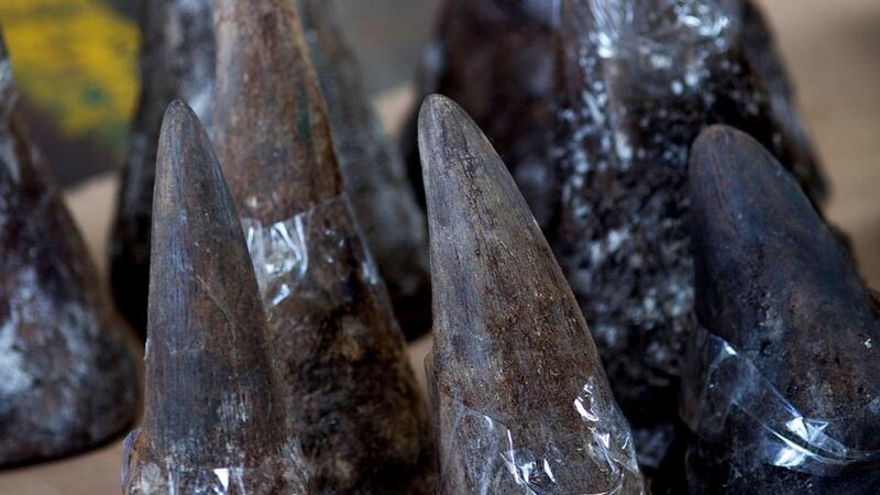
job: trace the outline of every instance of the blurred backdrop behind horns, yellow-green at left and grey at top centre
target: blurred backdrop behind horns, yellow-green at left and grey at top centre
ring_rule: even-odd
[[[140,91],[138,2],[0,0],[0,22],[31,135],[66,186],[124,158]],[[371,92],[413,76],[438,4],[337,1]]]

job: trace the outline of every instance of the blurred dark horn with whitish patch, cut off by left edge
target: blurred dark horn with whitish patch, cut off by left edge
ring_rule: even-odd
[[[136,416],[129,329],[18,114],[0,34],[0,465],[96,447]]]

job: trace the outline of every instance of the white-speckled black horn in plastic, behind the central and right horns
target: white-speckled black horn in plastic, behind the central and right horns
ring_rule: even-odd
[[[649,468],[674,438],[679,369],[695,328],[693,140],[712,123],[739,127],[788,164],[814,202],[823,195],[815,157],[773,105],[788,98],[784,88],[768,91],[766,67],[748,56],[746,6],[562,2],[562,194],[549,238]],[[776,59],[770,46],[755,51]]]

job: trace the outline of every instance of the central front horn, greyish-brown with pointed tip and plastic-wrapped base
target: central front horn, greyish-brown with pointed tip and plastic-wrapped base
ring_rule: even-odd
[[[590,330],[504,163],[439,96],[419,147],[440,493],[645,493]]]

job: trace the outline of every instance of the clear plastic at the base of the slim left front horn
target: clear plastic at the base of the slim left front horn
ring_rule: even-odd
[[[172,458],[138,460],[133,451],[139,429],[125,438],[122,460],[123,493],[130,495],[265,495],[305,494],[305,470],[292,449],[286,457],[265,459],[260,466],[191,466]],[[279,492],[282,491],[282,492]]]

